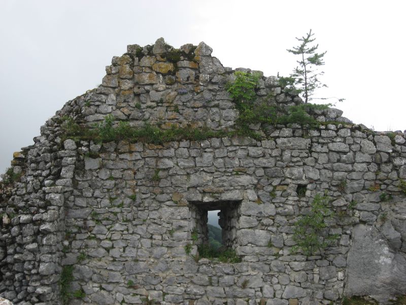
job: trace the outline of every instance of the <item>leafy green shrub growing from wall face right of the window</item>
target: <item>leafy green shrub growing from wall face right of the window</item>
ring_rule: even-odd
[[[291,251],[301,250],[307,256],[319,251],[324,256],[324,250],[338,238],[336,234],[322,236],[327,227],[327,221],[332,218],[332,215],[329,197],[317,194],[310,204],[308,214],[294,223],[293,240],[296,245],[291,248]]]

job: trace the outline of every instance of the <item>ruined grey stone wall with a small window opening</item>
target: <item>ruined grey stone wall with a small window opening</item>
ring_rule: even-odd
[[[21,178],[0,189],[0,296],[61,304],[67,287],[69,304],[316,305],[352,295],[384,304],[406,292],[402,132],[375,133],[329,108],[317,128],[251,125],[260,141],[62,140],[63,118],[92,128],[108,114],[139,128],[232,129],[239,112],[225,84],[251,70],[211,53],[203,42],[129,45],[101,85],[14,154]],[[262,73],[256,93],[301,103]],[[324,235],[339,237],[304,256],[291,251],[294,223],[317,194],[334,214]],[[213,209],[241,262],[198,259]]]

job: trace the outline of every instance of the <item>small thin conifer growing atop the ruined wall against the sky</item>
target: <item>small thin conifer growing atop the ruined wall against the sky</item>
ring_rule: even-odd
[[[297,93],[302,93],[304,97],[304,102],[308,103],[312,100],[311,96],[314,90],[320,87],[327,87],[327,85],[322,84],[318,76],[323,75],[324,72],[318,72],[317,67],[323,66],[323,56],[326,52],[316,53],[319,45],[311,46],[315,38],[312,38],[312,29],[306,36],[296,39],[300,42],[300,45],[293,47],[292,49],[287,49],[288,52],[299,55],[300,59],[297,60],[299,64],[298,67],[293,69],[293,73],[290,77],[284,78],[284,80],[295,88]]]

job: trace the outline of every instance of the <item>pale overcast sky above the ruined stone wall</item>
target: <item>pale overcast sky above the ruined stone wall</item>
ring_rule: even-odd
[[[325,55],[321,97],[377,131],[404,130],[403,1],[0,0],[0,172],[63,104],[101,83],[127,44],[205,41],[226,67],[289,75],[310,28]]]

